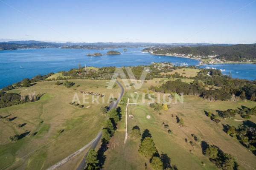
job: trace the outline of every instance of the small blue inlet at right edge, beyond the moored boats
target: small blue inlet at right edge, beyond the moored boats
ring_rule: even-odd
[[[256,64],[212,64],[212,65],[201,65],[201,68],[214,67],[217,69],[222,69],[222,74],[229,75],[233,78],[239,79],[256,79]]]

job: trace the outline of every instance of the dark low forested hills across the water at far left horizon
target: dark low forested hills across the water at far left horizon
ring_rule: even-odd
[[[60,45],[48,43],[48,42],[40,42],[40,43],[29,43],[29,44],[19,44],[19,43],[8,43],[8,42],[0,42],[0,50],[16,50],[16,49],[26,49],[26,48],[57,48]]]

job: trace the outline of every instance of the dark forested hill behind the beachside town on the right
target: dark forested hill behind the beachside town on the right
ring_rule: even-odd
[[[198,47],[173,47],[173,48],[145,48],[143,51],[153,51],[154,54],[192,54],[194,56],[219,55],[217,58],[230,61],[242,59],[256,59],[256,44],[238,45],[209,45]]]

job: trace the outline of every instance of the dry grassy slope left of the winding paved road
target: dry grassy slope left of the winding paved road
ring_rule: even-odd
[[[29,88],[18,88],[10,91],[20,92],[24,95],[33,91],[36,91],[36,94],[45,94],[37,102],[0,109],[2,116],[17,117],[10,122],[5,119],[0,120],[0,128],[4,129],[0,131],[0,168],[32,152],[15,162],[9,169],[44,169],[78,150],[97,135],[102,122],[105,120],[105,115],[100,113],[100,107],[108,104],[102,104],[101,98],[100,104],[91,103],[91,95],[87,100],[90,104],[84,104],[84,108],[78,108],[69,103],[75,93],[78,93],[82,102],[80,91],[104,93],[105,102],[107,102],[109,94],[113,92],[114,96],[117,97],[120,88],[116,86],[114,90],[106,89],[107,81],[71,81],[80,86],[65,88],[63,85],[54,85],[55,81],[37,82],[36,85]],[[90,107],[86,108],[89,105]],[[44,122],[41,123],[41,121]],[[23,123],[27,124],[21,128],[16,127],[16,124]],[[64,129],[64,132],[58,135],[56,132],[60,129]],[[8,139],[9,136],[29,131],[31,131],[30,134],[32,132],[38,133],[34,137],[28,135],[15,143]]]

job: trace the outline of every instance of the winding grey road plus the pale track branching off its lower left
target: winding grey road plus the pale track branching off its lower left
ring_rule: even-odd
[[[112,108],[116,108],[118,102],[120,101],[120,99],[122,98],[122,95],[124,94],[124,88],[122,87],[122,85],[118,81],[116,81],[116,83],[121,87],[121,94],[119,95],[119,97],[118,97],[118,99],[116,101],[111,102],[108,105],[109,110],[111,110]],[[107,119],[108,119],[108,116],[107,116]],[[101,129],[103,129],[103,127]],[[61,165],[63,165],[64,163],[66,163],[67,161],[72,159],[73,157],[77,156],[79,153],[81,153],[83,150],[85,150],[90,145],[91,145],[90,149],[95,149],[96,146],[99,144],[99,141],[100,141],[101,137],[102,137],[102,130],[100,130],[98,135],[91,142],[89,142],[88,144],[86,144],[84,147],[82,147],[81,149],[77,150],[76,152],[72,153],[71,155],[67,156],[65,159],[62,159],[57,164],[54,164],[53,166],[47,168],[47,170],[55,170],[57,167],[60,167]],[[88,152],[89,152],[89,150],[88,150]],[[85,154],[84,157],[86,157],[88,155],[88,152]],[[86,159],[84,158],[81,161],[81,163],[79,164],[79,166],[77,167],[76,170],[84,170],[85,165],[86,165]]]

